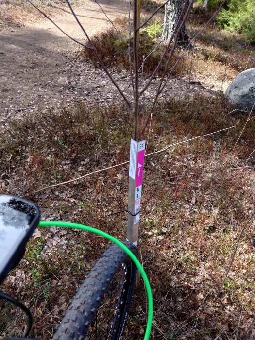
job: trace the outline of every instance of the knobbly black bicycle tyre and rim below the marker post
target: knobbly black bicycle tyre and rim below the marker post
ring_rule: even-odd
[[[134,244],[123,242],[136,256]],[[120,340],[136,282],[136,265],[116,244],[88,273],[53,340]]]

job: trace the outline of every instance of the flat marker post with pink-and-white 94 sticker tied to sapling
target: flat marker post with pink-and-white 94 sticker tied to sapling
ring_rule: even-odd
[[[142,177],[145,155],[145,140],[130,142],[129,192],[127,240],[137,245],[139,232],[139,211],[141,207]]]

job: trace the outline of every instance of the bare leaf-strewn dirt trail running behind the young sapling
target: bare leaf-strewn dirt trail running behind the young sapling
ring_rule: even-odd
[[[104,11],[111,19],[127,15],[128,0],[101,0]],[[54,21],[69,35],[85,41],[84,34],[68,8],[54,8]],[[52,8],[51,8],[52,10]],[[93,0],[83,0],[75,12],[91,36],[110,23]],[[38,108],[71,105],[77,100],[87,105],[107,104],[121,100],[118,91],[104,71],[95,69],[78,58],[79,46],[62,34],[49,20],[41,20],[25,28],[9,29],[0,34],[0,126],[11,117],[20,117]],[[126,71],[114,72],[120,88],[130,98],[130,76]],[[200,77],[201,78],[201,77]],[[158,79],[148,91],[147,99],[154,97]],[[223,90],[227,86],[224,84]],[[211,88],[213,87],[213,91]],[[170,79],[163,91],[169,98],[186,92],[212,93],[222,83],[213,79],[187,77]]]

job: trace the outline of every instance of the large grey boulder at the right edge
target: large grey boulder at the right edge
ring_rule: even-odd
[[[247,69],[238,74],[228,86],[226,98],[231,104],[236,104],[241,109],[253,107],[255,103],[255,68]]]

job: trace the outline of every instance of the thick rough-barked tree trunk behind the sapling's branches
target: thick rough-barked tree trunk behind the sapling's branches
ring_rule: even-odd
[[[173,30],[176,26],[176,23],[180,17],[182,8],[183,8],[184,0],[173,0],[169,1],[165,6],[165,18],[164,18],[164,30],[163,30],[163,39],[169,40]],[[186,33],[186,25],[184,24],[181,33],[178,37],[178,45],[187,46],[189,42],[189,37]]]

